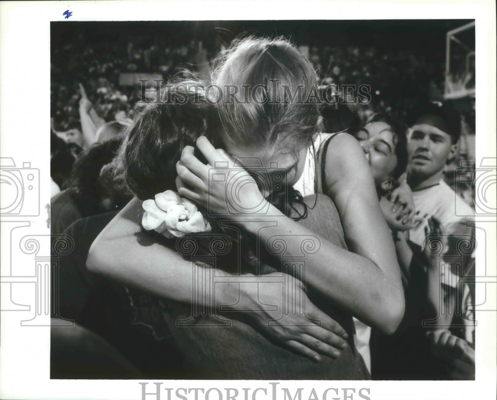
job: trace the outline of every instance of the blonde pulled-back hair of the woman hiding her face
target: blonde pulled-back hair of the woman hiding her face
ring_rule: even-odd
[[[312,142],[319,117],[312,94],[313,89],[317,94],[316,72],[288,40],[235,40],[214,61],[212,83],[222,94],[217,109],[225,142]]]

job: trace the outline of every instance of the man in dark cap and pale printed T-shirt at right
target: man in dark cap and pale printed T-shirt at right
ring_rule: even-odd
[[[411,120],[408,136],[408,184],[418,211],[410,231],[410,239],[422,246],[428,219],[440,221],[442,232],[453,234],[463,220],[456,215],[472,215],[474,211],[444,181],[444,166],[456,155],[461,135],[457,112],[448,105],[431,103],[417,110]]]

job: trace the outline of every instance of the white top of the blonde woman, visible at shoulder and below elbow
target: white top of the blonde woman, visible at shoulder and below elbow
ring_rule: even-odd
[[[309,147],[306,156],[304,171],[302,172],[299,180],[295,183],[295,185],[293,185],[293,188],[298,190],[304,197],[316,194],[316,152],[318,151],[321,143],[323,143],[331,135],[331,133],[318,133],[316,138],[314,139],[314,148],[313,146]],[[371,328],[355,317],[353,318],[353,321],[355,327],[355,347],[364,359],[364,363],[366,364],[368,371],[371,373],[371,349],[369,346],[369,340],[371,338]]]

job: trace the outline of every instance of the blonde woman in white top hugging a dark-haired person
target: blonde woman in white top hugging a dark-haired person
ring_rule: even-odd
[[[232,221],[243,235],[265,244],[276,261],[283,264],[285,259],[302,258],[303,238],[316,238],[318,250],[305,254],[305,273],[299,270],[298,263],[290,264],[285,269],[288,276],[304,281],[307,293],[315,296],[316,303],[329,315],[344,313],[345,317],[338,320],[349,338],[353,331],[352,316],[383,332],[393,333],[402,319],[404,297],[390,232],[381,213],[371,171],[356,140],[347,135],[316,133],[318,111],[312,96],[313,68],[286,40],[253,38],[235,42],[215,65],[213,83],[221,88],[218,93],[221,101],[219,96],[212,99],[209,94],[206,99],[208,103],[218,100],[216,110],[221,128],[216,139],[223,150],[216,149],[203,135],[195,140],[196,148],[193,143],[184,143],[187,145],[176,163],[175,184],[179,195],[197,203],[208,215]],[[244,90],[246,88],[250,90]],[[174,116],[170,117],[173,123]],[[158,124],[161,126],[161,121]],[[130,139],[131,135],[128,146]],[[160,164],[164,161],[160,156],[160,152],[148,155],[150,160],[159,163],[154,172],[161,171]],[[267,179],[253,179],[261,168]],[[275,170],[278,174],[271,172]],[[310,193],[321,192],[328,196],[316,199],[333,200],[338,211],[335,219],[341,220],[348,250],[292,219],[286,207],[277,207],[265,199],[281,190],[278,188],[281,171],[284,171],[286,188],[301,185]],[[216,176],[225,178],[213,180]],[[234,176],[237,179],[231,179]],[[172,176],[164,179],[170,180]],[[240,179],[247,183],[241,192],[232,186]],[[159,192],[166,188],[169,187],[164,185],[154,190]],[[318,203],[316,200],[316,205]],[[313,206],[304,204],[308,208]],[[301,215],[305,215],[305,205],[301,209]],[[263,210],[263,215],[259,210]],[[321,220],[326,221],[327,217],[333,221],[332,214],[322,215]],[[141,201],[133,200],[93,243],[88,268],[176,301],[191,302],[192,276],[201,276],[195,274],[195,268],[201,267],[185,261],[157,240],[149,242],[149,246],[140,245],[136,235],[142,231],[141,219]],[[268,224],[268,221],[277,223]],[[319,223],[315,221],[315,224]],[[273,240],[276,236],[283,238],[284,254],[276,251]],[[257,289],[257,285],[228,283],[222,290],[209,292],[196,301],[211,306],[229,304],[239,311],[255,310],[259,307],[257,296],[263,292]],[[273,293],[275,299],[278,296],[274,290],[267,285],[263,294]],[[338,345],[337,341],[330,340],[324,331],[311,333],[305,327],[290,328],[285,323],[288,320],[268,324],[274,314],[266,310],[250,314],[259,322],[261,331],[272,333],[273,338],[290,349],[323,362],[331,360],[334,367],[330,368],[327,379],[367,377],[357,364],[360,356],[350,340],[351,357],[344,357],[344,350],[334,360],[322,358],[320,353],[331,357],[338,353],[332,348],[333,344]],[[295,323],[298,316],[294,317]],[[233,350],[236,353],[237,348]],[[240,354],[246,356],[249,352]],[[234,363],[228,363],[232,369],[234,365],[247,366],[242,359],[230,360]],[[268,365],[274,366],[270,361]],[[250,368],[242,369],[250,371]],[[300,366],[299,370],[300,375],[298,371],[284,375],[287,379],[299,376],[310,379],[316,373],[313,370],[306,374]],[[278,377],[277,372],[269,374],[268,371],[269,367],[256,377]]]

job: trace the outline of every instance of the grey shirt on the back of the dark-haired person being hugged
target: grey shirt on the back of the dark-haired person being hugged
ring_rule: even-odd
[[[300,223],[326,237],[335,245],[345,248],[343,230],[336,207],[328,197],[320,196],[316,202],[313,199],[309,200],[313,208],[308,210],[307,217],[302,219]],[[310,238],[302,238],[301,250],[305,248],[308,239]],[[186,243],[183,246],[180,242],[176,242],[176,248],[188,248],[192,251],[191,255],[197,260],[203,258],[205,262],[218,263],[218,267],[223,267],[229,262],[229,253],[223,256],[228,257],[228,259],[212,257],[215,250],[221,249],[221,246],[214,246],[214,243],[217,243],[215,237],[210,240],[211,245],[204,246],[208,249],[207,252],[201,250],[200,244],[194,244],[192,236],[188,238],[188,246]],[[227,248],[238,254],[247,252],[247,249],[243,248],[237,249],[230,246]],[[219,250],[219,253],[223,252]],[[286,259],[283,255],[280,264],[281,262],[305,264],[304,252],[303,256],[303,258]],[[236,257],[233,259],[237,260]],[[283,266],[279,268],[277,265],[274,266],[278,270],[284,268]],[[210,282],[211,287],[214,287],[216,285],[215,272],[212,269],[206,269],[204,273],[211,275],[212,280],[207,279],[207,281]],[[192,278],[195,287],[195,282],[198,280],[194,276]],[[291,288],[284,286],[284,283],[281,287],[285,287],[283,290],[291,290]],[[218,288],[222,290],[222,283]],[[262,287],[259,289],[263,290]],[[195,294],[192,293],[192,296],[195,298]],[[313,295],[311,292],[308,293],[308,296],[317,307],[340,324],[349,335],[349,346],[342,350],[337,359],[323,357],[321,362],[316,363],[283,348],[281,343],[272,343],[259,333],[256,326],[250,325],[247,314],[225,313],[219,316],[209,313],[202,307],[173,301],[164,302],[162,300],[159,302],[157,298],[151,297],[151,305],[154,305],[155,309],[155,312],[151,314],[162,315],[162,320],[159,318],[156,320],[157,322],[149,324],[156,332],[168,330],[172,333],[182,356],[185,379],[369,379],[370,376],[364,361],[354,346],[351,315],[333,306],[330,300],[322,296]],[[132,293],[132,297],[139,298],[139,295]],[[284,311],[291,313],[291,305],[288,310]]]

